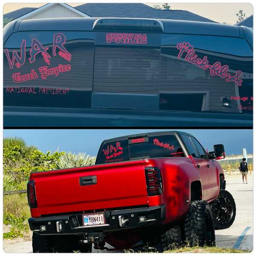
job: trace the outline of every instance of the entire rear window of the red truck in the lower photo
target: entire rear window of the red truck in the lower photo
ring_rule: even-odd
[[[106,143],[98,153],[96,164],[158,157],[185,157],[180,143],[174,135],[142,137]]]

